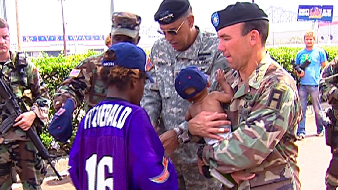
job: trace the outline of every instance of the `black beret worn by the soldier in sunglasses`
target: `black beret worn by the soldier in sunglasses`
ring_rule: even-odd
[[[154,15],[154,19],[160,24],[173,23],[187,13],[189,7],[188,0],[163,0]]]

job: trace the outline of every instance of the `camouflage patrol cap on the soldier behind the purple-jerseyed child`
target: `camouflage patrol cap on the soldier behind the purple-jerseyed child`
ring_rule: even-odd
[[[132,13],[115,12],[112,16],[112,23],[112,35],[136,38],[140,31],[141,17]]]

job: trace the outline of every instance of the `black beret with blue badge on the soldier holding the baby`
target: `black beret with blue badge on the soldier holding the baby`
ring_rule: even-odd
[[[267,20],[268,16],[264,10],[258,7],[256,3],[240,3],[229,5],[223,10],[216,11],[211,16],[211,22],[216,31],[234,25],[240,22],[247,22],[253,20]]]

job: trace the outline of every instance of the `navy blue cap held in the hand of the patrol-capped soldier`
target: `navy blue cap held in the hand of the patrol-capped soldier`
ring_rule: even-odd
[[[53,120],[49,124],[48,131],[55,140],[65,143],[72,137],[73,110],[74,102],[71,98],[68,98],[65,105],[54,114]]]

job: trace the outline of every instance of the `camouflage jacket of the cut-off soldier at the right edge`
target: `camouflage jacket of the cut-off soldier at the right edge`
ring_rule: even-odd
[[[324,100],[332,105],[335,115],[338,115],[338,57],[325,66],[319,81],[319,90]],[[338,116],[337,116],[338,118]],[[335,125],[335,130],[338,126]]]

